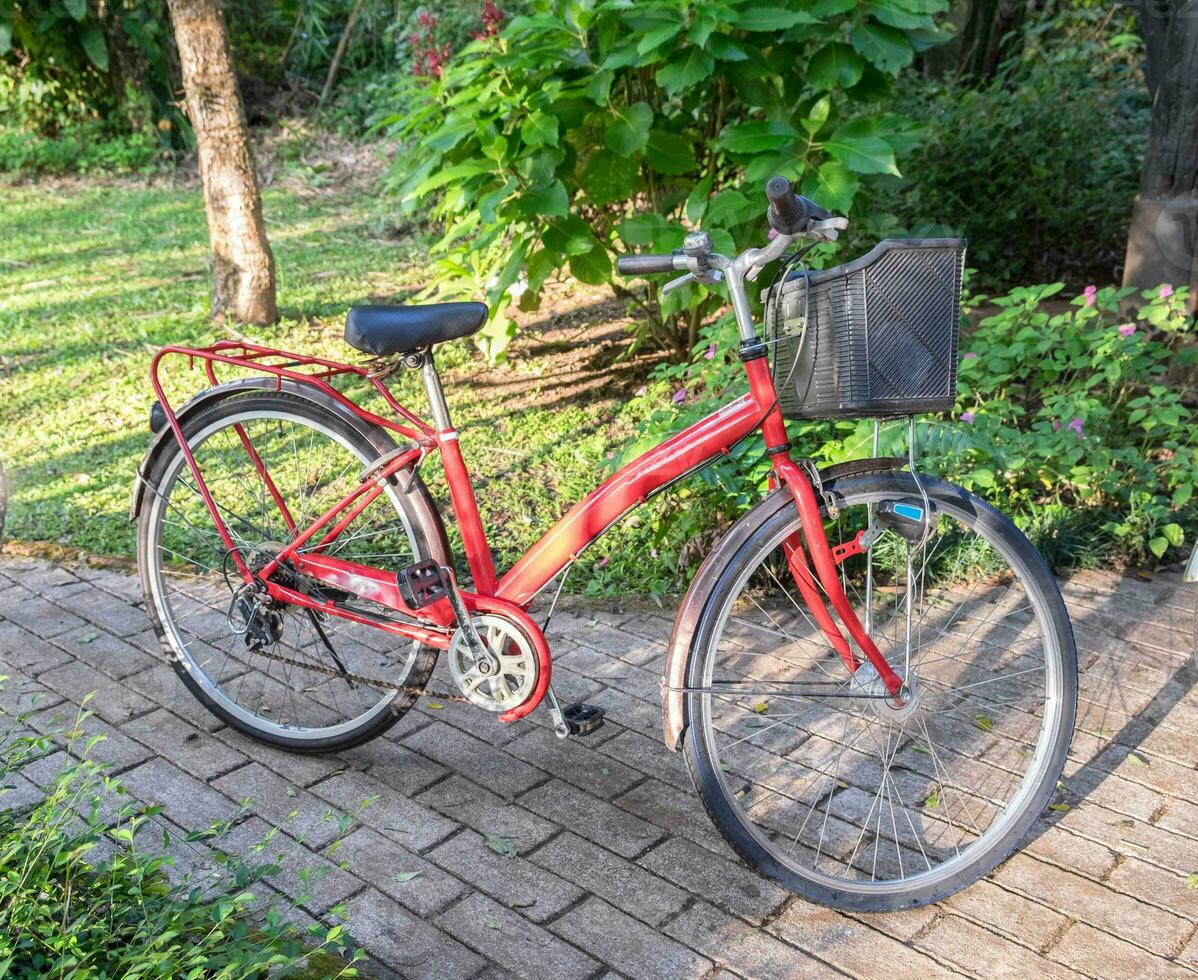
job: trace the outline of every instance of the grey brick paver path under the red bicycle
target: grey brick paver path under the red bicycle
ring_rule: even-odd
[[[425,702],[369,745],[301,757],[220,727],[192,700],[132,576],[0,559],[0,673],[11,677],[0,706],[28,710],[40,696],[30,724],[50,730],[96,691],[89,730],[107,740],[95,755],[129,791],[182,829],[234,817],[248,799],[225,846],[279,827],[271,851],[288,851],[290,873],[271,881],[292,894],[296,869],[320,865],[335,835],[323,815],[373,798],[337,852],[344,869],[297,914],[344,902],[379,975],[1192,975],[1198,588],[1083,574],[1065,592],[1082,664],[1071,807],[1048,813],[990,879],[884,917],[775,888],[708,823],[659,734],[668,610],[555,617],[557,686],[607,710],[589,738],[558,742],[544,712],[503,726]],[[36,798],[35,784],[18,784],[5,804]],[[519,853],[496,853],[488,835]]]

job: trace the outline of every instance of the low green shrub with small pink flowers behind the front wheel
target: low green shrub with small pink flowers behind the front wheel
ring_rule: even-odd
[[[1011,515],[1057,567],[1166,558],[1198,520],[1194,392],[1184,381],[1198,363],[1198,331],[1182,313],[1186,291],[1144,294],[1146,304],[1123,319],[1132,290],[1090,286],[1063,303],[1053,298],[1063,289],[969,301],[996,311],[962,337],[956,412],[916,424],[920,468]],[[639,438],[613,466],[744,391],[736,340],[724,317],[701,331],[691,363],[654,371],[629,405]],[[830,464],[869,455],[872,425],[803,421],[788,430],[798,452]],[[883,455],[906,455],[906,430],[883,427]],[[683,571],[697,564],[721,526],[760,498],[768,474],[761,442],[744,441],[623,544],[593,591],[642,577],[649,550]],[[680,574],[676,586],[684,583]]]

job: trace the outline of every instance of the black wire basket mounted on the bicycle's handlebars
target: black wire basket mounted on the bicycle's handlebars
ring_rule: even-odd
[[[888,238],[769,291],[774,385],[787,418],[944,412],[957,395],[964,238]]]

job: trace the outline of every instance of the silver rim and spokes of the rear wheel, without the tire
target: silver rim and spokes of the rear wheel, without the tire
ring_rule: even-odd
[[[335,428],[282,410],[246,410],[190,435],[189,446],[205,482],[242,550],[270,543],[277,546],[286,540],[288,531],[278,509],[270,510],[265,485],[247,477],[252,462],[235,441],[235,424],[247,432],[301,527],[347,494],[361,468],[374,459]],[[276,430],[273,436],[267,427]],[[282,448],[283,455],[271,454],[272,448]],[[231,465],[238,452],[243,459],[240,470]],[[218,459],[230,461],[224,472],[212,465]],[[262,734],[316,742],[345,737],[371,724],[398,697],[407,696],[289,666],[246,647],[228,622],[232,600],[229,563],[216,563],[224,548],[181,453],[171,458],[158,488],[147,501],[150,598],[171,651],[224,712]],[[230,500],[229,488],[240,488],[240,506],[223,502]],[[180,489],[183,495],[176,498]],[[397,492],[388,488],[392,508],[383,501],[368,508],[333,543],[329,553],[383,567],[415,561],[416,538]],[[253,513],[248,504],[254,504]],[[252,540],[255,532],[260,540]],[[193,553],[181,550],[182,542],[190,543]],[[231,576],[236,579],[236,571]],[[355,605],[368,612],[382,611],[357,599]],[[314,623],[315,617],[296,607],[280,610],[280,633],[265,649],[289,659],[326,669],[344,666],[350,673],[395,684],[407,683],[420,659],[419,643],[371,627],[339,617],[316,618]],[[199,623],[202,633],[196,629]]]

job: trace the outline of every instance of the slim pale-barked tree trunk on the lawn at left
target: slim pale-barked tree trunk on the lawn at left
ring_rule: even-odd
[[[274,256],[219,0],[168,0],[212,243],[212,315],[273,323]]]

